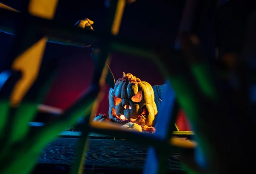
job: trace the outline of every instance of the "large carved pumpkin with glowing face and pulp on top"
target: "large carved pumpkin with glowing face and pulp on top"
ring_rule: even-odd
[[[109,98],[109,118],[115,122],[128,123],[139,115],[145,115],[145,125],[152,126],[157,106],[154,102],[154,90],[146,81],[132,74],[124,74],[111,88]]]

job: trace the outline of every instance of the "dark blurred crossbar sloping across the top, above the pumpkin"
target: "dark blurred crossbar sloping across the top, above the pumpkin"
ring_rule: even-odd
[[[15,34],[15,29],[19,29],[15,27],[15,23],[20,19],[20,14],[0,9],[0,15],[5,16],[5,19],[0,18],[0,30]],[[125,36],[113,36],[109,33],[103,34],[97,31],[94,31],[93,33],[86,32],[81,28],[74,28],[73,26],[58,21],[45,20],[38,17],[28,17],[28,19],[29,21],[32,21],[31,24],[37,26],[37,29],[49,38],[55,38],[60,41],[69,40],[73,43],[72,45],[77,46],[88,43],[90,45],[97,45],[102,39],[111,39],[111,51],[157,60],[157,55],[148,42],[137,41],[134,38],[127,38]],[[6,28],[9,28],[9,30]]]

